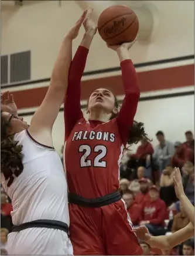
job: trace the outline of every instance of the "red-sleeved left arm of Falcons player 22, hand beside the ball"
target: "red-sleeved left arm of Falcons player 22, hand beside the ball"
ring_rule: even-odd
[[[85,33],[69,69],[69,85],[67,87],[66,97],[64,98],[65,140],[69,137],[74,124],[83,116],[80,106],[81,78],[85,69],[88,50],[97,31],[96,26],[91,21],[92,12],[93,9],[88,9],[87,11],[86,18],[83,22]]]

